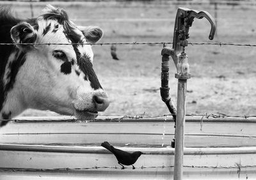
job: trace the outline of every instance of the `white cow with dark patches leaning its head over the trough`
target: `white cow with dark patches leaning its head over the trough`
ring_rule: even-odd
[[[22,45],[22,43],[95,43],[99,27],[76,26],[65,10],[47,6],[36,19],[14,18],[0,10],[0,119],[23,110],[52,110],[94,119],[109,100],[93,71],[91,45]],[[7,121],[0,121],[0,126]]]

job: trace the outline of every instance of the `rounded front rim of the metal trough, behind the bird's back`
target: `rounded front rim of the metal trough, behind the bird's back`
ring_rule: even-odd
[[[127,152],[142,151],[144,154],[174,154],[172,147],[118,147]],[[38,144],[0,144],[0,151],[35,151],[52,153],[98,153],[111,154],[101,146],[49,146]],[[251,147],[185,147],[186,154],[255,154]]]

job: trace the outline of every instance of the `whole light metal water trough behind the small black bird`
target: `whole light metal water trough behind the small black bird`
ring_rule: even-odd
[[[23,119],[29,121],[0,129],[1,180],[173,178],[170,118],[119,122],[99,117],[87,123],[70,122],[70,117]],[[186,117],[183,179],[255,179],[255,126],[253,117],[203,123],[201,117]],[[100,146],[106,140],[119,149],[145,153],[136,169],[120,169],[115,156]]]

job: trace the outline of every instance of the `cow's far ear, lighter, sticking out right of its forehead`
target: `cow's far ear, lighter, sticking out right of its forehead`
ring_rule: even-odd
[[[96,43],[103,36],[103,31],[97,26],[78,26],[84,37],[90,43]]]

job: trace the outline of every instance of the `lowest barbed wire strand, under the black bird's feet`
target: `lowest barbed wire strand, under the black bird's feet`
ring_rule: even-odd
[[[135,167],[135,169],[165,169],[165,168],[173,168],[174,165],[161,165],[161,166],[141,166]],[[207,168],[207,169],[242,169],[242,168],[254,168],[256,165],[239,165],[236,163],[234,166],[198,166],[198,165],[184,165],[185,168]],[[33,172],[49,172],[49,171],[72,171],[72,170],[97,170],[97,169],[122,169],[122,167],[107,167],[107,166],[94,166],[94,167],[81,167],[81,168],[54,168],[54,169],[30,169],[30,168],[0,168],[0,172],[24,172],[24,171],[33,171]],[[132,169],[132,167],[124,167],[124,169]]]

